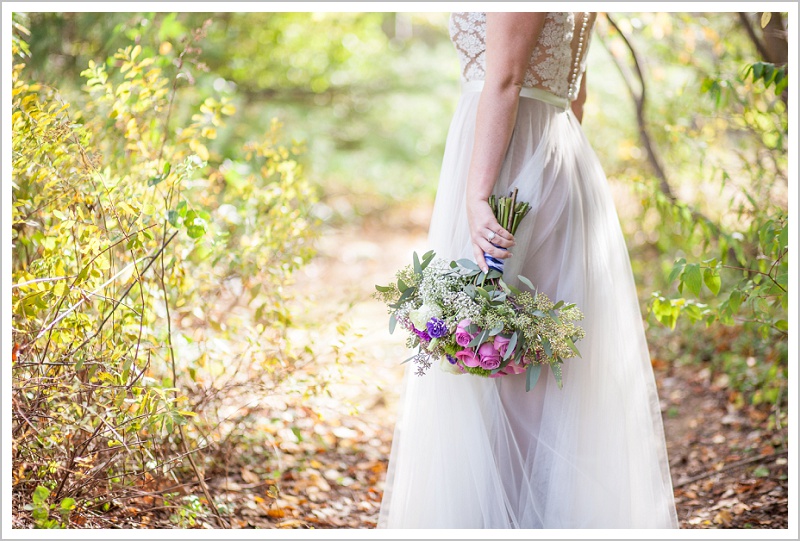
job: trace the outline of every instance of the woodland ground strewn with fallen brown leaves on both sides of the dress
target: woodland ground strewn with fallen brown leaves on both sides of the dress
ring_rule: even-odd
[[[376,527],[405,350],[370,294],[425,249],[429,217],[427,209],[393,216],[330,230],[298,277],[298,323],[310,330],[296,338],[328,344],[318,363],[335,364],[342,377],[310,400],[264,400],[263,422],[248,428],[255,443],[206,471],[227,526]],[[353,362],[337,362],[348,356]],[[653,365],[680,526],[787,528],[786,428],[771,426],[764,409],[734,407],[722,375],[657,355]],[[154,481],[104,513],[76,514],[72,525],[218,527],[196,483],[172,485]]]

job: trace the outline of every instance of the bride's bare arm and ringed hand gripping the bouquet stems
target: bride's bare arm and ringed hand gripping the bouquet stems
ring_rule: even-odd
[[[467,218],[472,251],[478,266],[488,270],[484,253],[506,258],[511,252],[499,250],[514,245],[514,237],[497,222],[488,199],[503,165],[514,131],[519,91],[525,81],[533,48],[542,31],[546,13],[486,14],[486,81],[475,124],[475,143],[467,177]]]

